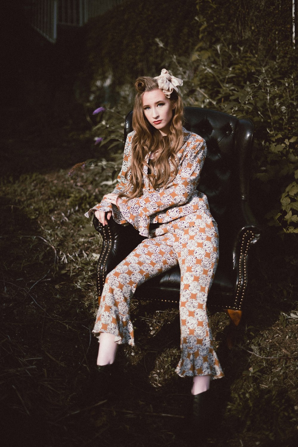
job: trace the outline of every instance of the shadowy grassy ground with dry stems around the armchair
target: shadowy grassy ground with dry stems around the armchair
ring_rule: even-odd
[[[78,167],[69,177],[69,160],[74,164],[94,155],[89,141],[65,138],[59,147],[57,137],[46,144],[28,137],[31,155],[40,157],[33,165],[24,158],[25,149],[18,152],[19,143],[8,141],[7,166],[12,159],[16,163],[5,169],[0,202],[3,445],[189,446],[191,382],[174,373],[175,308],[133,300],[137,345],[119,351],[118,395],[86,401],[97,349],[91,330],[101,239],[83,213],[108,190],[119,157],[104,167]],[[59,160],[54,156],[51,164],[53,153]],[[297,439],[298,244],[293,236],[282,240],[275,228],[265,232],[232,350],[225,344],[228,317],[211,315],[225,378],[212,383],[223,414],[208,445],[290,447]],[[200,445],[199,440],[192,444]]]

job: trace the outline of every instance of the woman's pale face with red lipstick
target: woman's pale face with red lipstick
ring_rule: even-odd
[[[143,111],[149,123],[158,129],[162,136],[169,133],[173,110],[176,104],[170,101],[160,89],[143,94]]]

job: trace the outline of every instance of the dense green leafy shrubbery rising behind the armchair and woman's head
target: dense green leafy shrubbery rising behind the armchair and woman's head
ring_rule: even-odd
[[[106,156],[120,156],[133,81],[140,75],[156,75],[161,63],[184,80],[181,92],[186,105],[252,120],[253,208],[260,220],[279,225],[284,232],[298,232],[298,54],[291,42],[290,0],[252,0],[249,8],[243,0],[200,0],[197,10],[194,2],[186,1],[182,7],[174,1],[171,8],[177,12],[185,8],[187,13],[172,14],[169,27],[161,26],[162,13],[145,14],[153,6],[131,1],[109,13],[108,25],[98,26],[98,21],[107,21],[106,15],[88,25],[93,83],[86,105],[102,105],[98,101],[107,79],[107,89],[111,93],[112,84],[117,85],[120,99],[93,123],[94,138],[102,139],[100,148]],[[167,2],[159,4],[166,7]],[[117,33],[108,33],[106,26]]]

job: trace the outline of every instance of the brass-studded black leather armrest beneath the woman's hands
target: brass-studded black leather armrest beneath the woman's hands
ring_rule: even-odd
[[[132,225],[119,225],[111,219],[102,225],[94,216],[93,225],[103,237],[103,246],[97,262],[96,287],[99,295],[107,274],[113,270],[144,239]]]

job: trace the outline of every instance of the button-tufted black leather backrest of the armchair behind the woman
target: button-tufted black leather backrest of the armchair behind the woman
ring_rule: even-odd
[[[207,157],[198,189],[207,195],[219,223],[229,204],[247,200],[253,125],[248,120],[200,107],[185,107],[185,124],[207,143]],[[132,112],[125,120],[124,138],[132,131]]]

